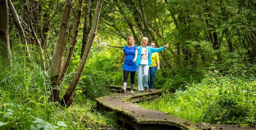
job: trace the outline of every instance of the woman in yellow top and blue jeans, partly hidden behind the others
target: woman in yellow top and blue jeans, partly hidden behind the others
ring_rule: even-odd
[[[155,43],[150,43],[149,44],[150,47],[155,48]],[[148,85],[149,85],[149,92],[153,92],[153,85],[155,82],[155,73],[156,73],[156,69],[160,69],[160,60],[159,60],[159,56],[158,56],[158,52],[154,52],[151,54],[151,60],[152,60],[152,65],[149,66],[149,70],[148,70],[148,74],[150,75],[148,80]]]

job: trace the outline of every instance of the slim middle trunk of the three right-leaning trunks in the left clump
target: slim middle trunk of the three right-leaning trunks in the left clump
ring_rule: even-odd
[[[71,34],[71,40],[69,43],[69,48],[68,48],[68,51],[66,52],[66,57],[65,57],[64,63],[60,69],[60,73],[59,73],[59,77],[56,81],[56,85],[59,85],[59,80],[62,80],[64,73],[68,69],[73,51],[75,49],[75,45],[76,45],[76,41],[77,41],[77,34],[78,34],[80,20],[81,20],[81,16],[82,16],[82,9],[83,9],[83,0],[78,0],[76,18],[74,20],[74,25],[73,25],[73,30],[72,30],[72,34]],[[59,96],[57,96],[57,97],[59,97]]]

